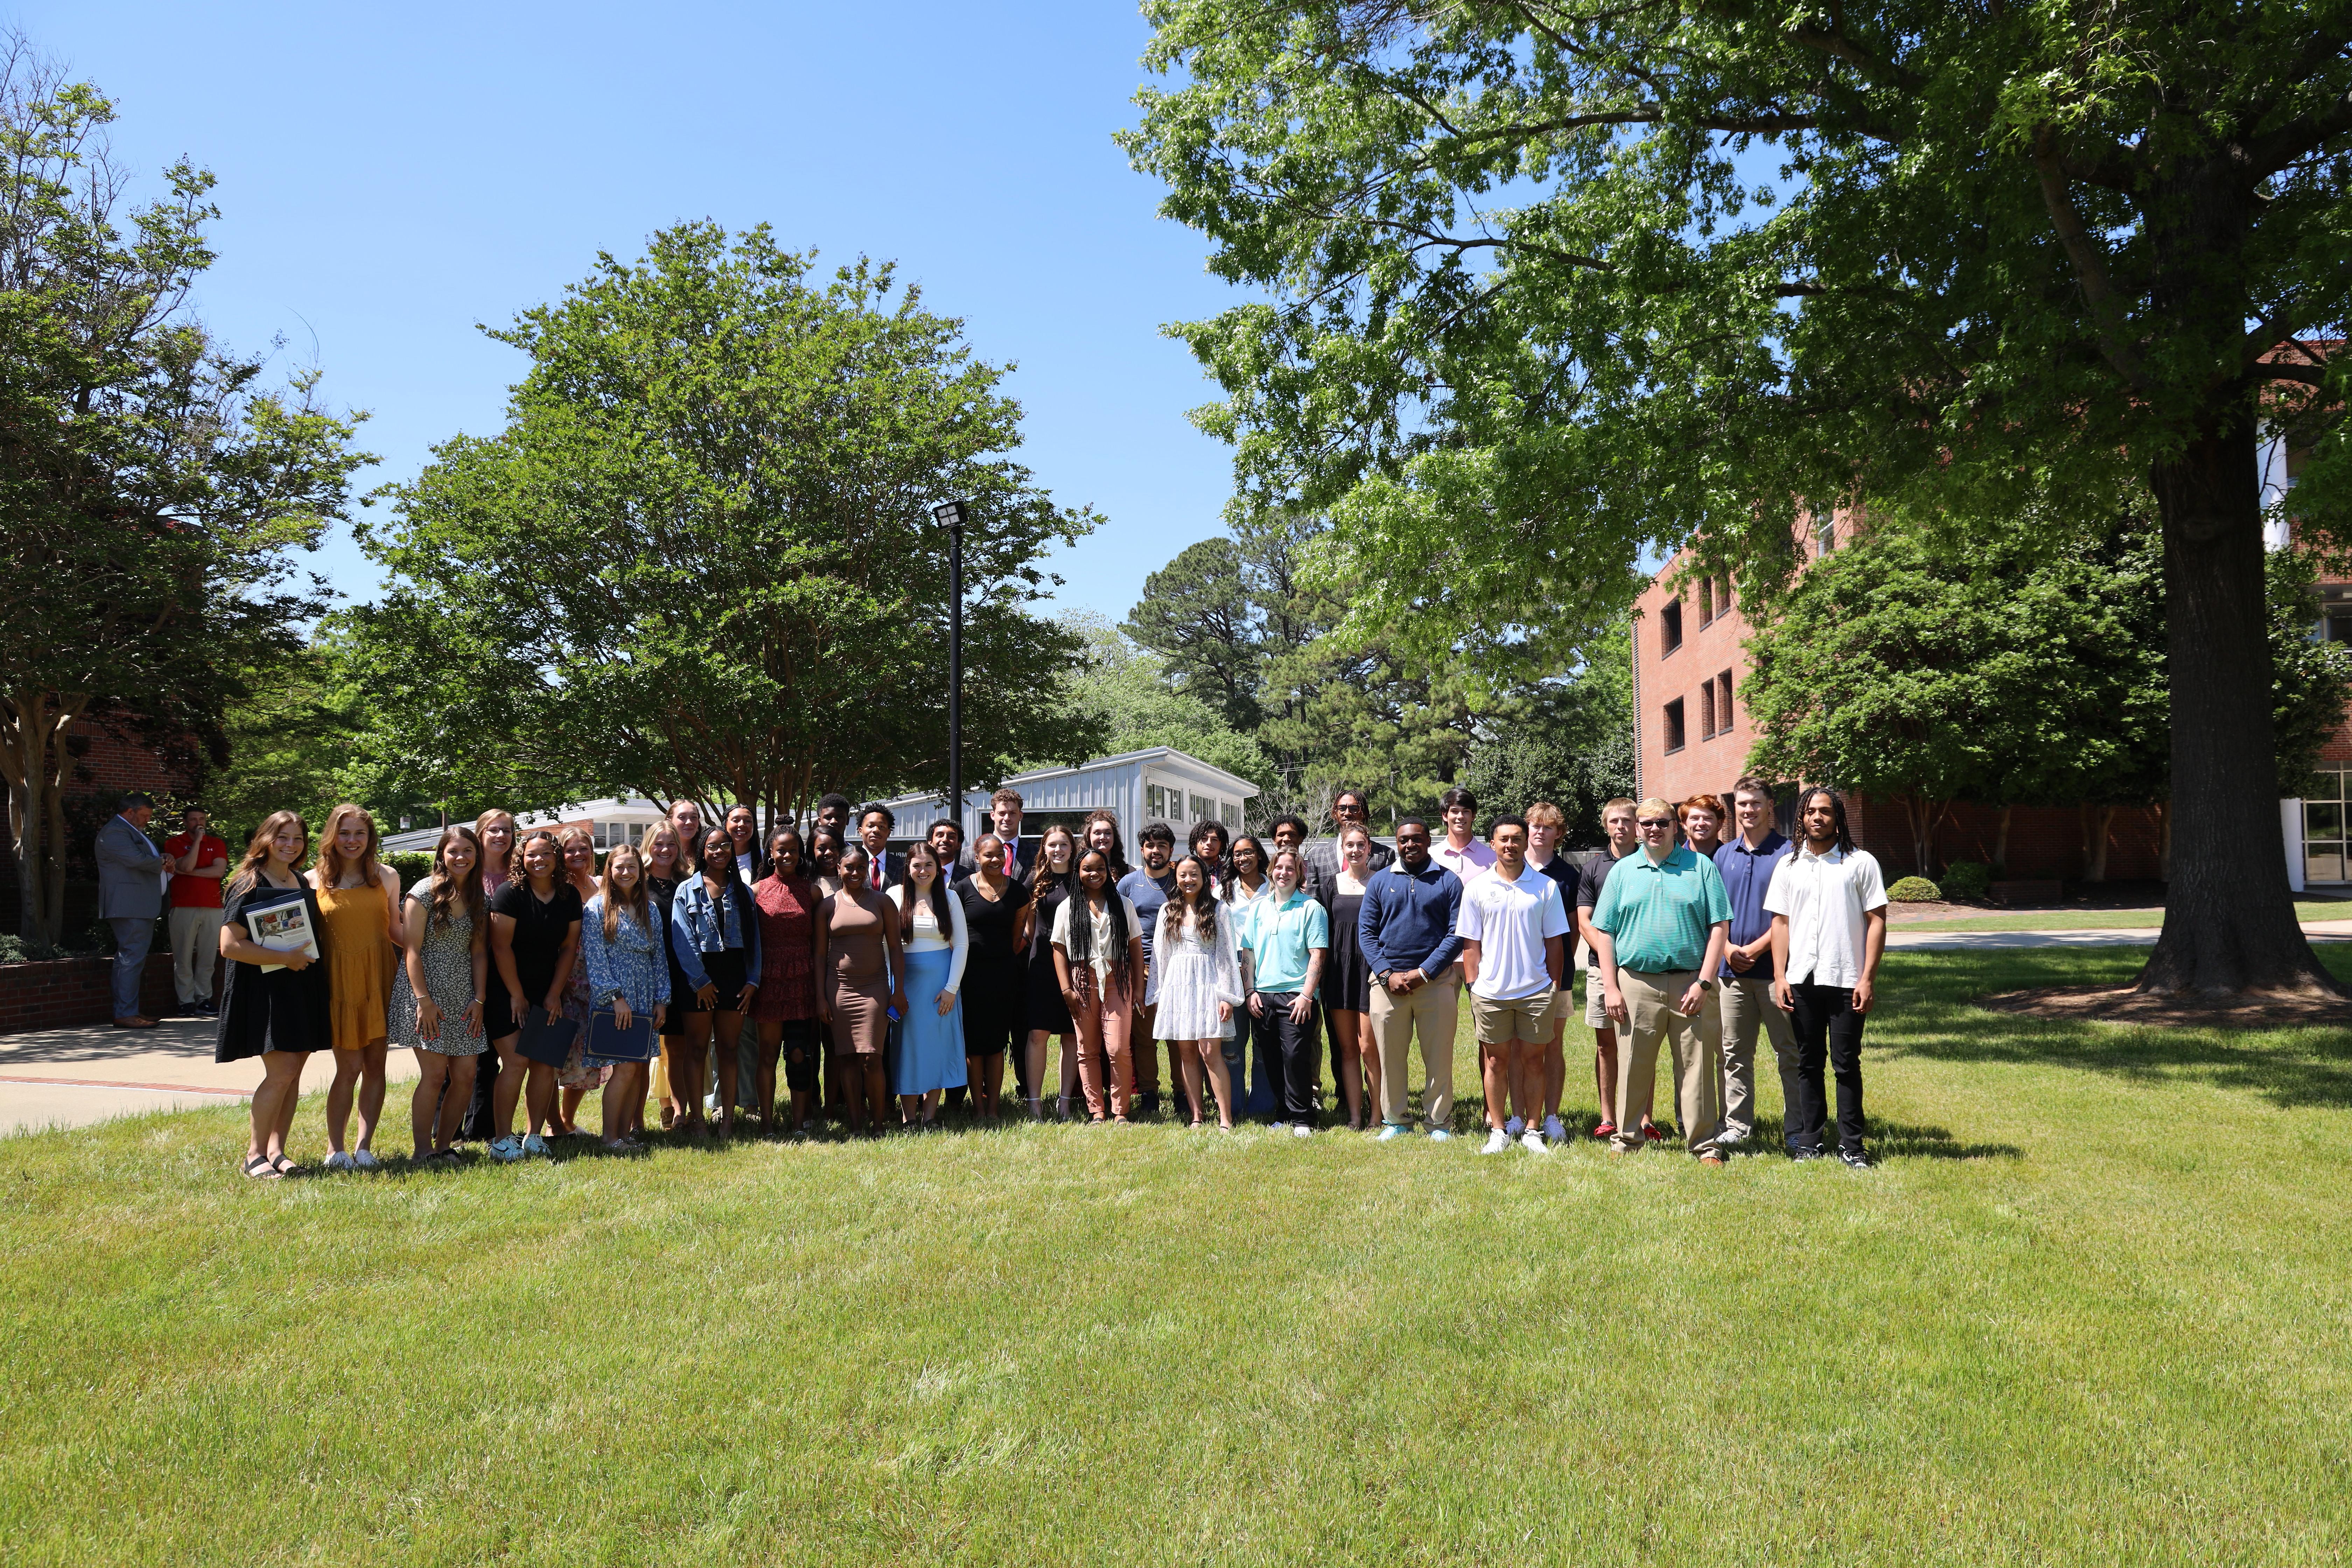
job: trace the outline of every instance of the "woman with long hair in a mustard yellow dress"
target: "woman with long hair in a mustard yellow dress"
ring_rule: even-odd
[[[383,1114],[386,1020],[393,961],[400,954],[400,875],[376,860],[376,818],[343,802],[318,835],[306,877],[327,919],[327,990],[334,994],[334,1084],[327,1086],[327,1168],[376,1168],[376,1119]],[[353,1088],[360,1091],[360,1150],[343,1150]]]

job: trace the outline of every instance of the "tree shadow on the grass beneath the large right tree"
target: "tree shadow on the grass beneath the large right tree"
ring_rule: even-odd
[[[2281,1110],[2352,1105],[2352,1027],[2279,1030],[2152,1027],[1994,1013],[1980,997],[2042,985],[2129,985],[2140,952],[1936,952],[1886,954],[1882,1006],[1863,1044],[1872,1051],[1952,1063],[2063,1065],[2145,1081],[2241,1088]],[[2352,952],[2321,950],[2352,978]]]

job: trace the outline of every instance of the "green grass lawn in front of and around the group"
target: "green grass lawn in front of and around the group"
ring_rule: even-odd
[[[2343,1561],[2352,1037],[1966,1006],[2136,961],[1891,957],[1875,1173],[1021,1126],[259,1185],[230,1110],[0,1140],[0,1542]]]

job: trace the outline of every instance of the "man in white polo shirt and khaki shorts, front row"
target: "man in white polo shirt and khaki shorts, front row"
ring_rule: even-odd
[[[1552,997],[1566,976],[1569,910],[1559,884],[1526,863],[1526,818],[1498,816],[1489,830],[1494,870],[1463,889],[1463,980],[1477,1025],[1486,1084],[1486,1147],[1510,1147],[1512,1126],[1536,1117],[1543,1095],[1543,1048],[1552,1039]],[[1519,1114],[1508,1117],[1512,1103]],[[1519,1138],[1543,1154],[1543,1133]]]

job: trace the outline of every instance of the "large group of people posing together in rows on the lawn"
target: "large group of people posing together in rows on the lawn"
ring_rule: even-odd
[[[1343,790],[1334,837],[1310,839],[1294,816],[1265,839],[1202,820],[1178,853],[1176,830],[1148,823],[1136,865],[1110,811],[1023,837],[1014,790],[995,795],[969,849],[955,820],[901,849],[887,806],[840,795],[807,835],[788,825],[764,842],[750,809],[706,825],[680,802],[602,858],[583,825],[517,830],[485,811],[440,832],[412,889],[362,806],[327,816],[315,856],[301,816],[280,811],[221,865],[216,1056],[263,1065],[245,1157],[256,1180],[296,1168],[287,1135],[313,1051],[336,1060],[329,1168],[379,1164],[390,1048],[419,1060],[412,1135],[426,1164],[454,1161],[461,1138],[501,1161],[543,1154],[579,1133],[597,1086],[616,1152],[640,1147],[649,1091],[661,1124],[694,1138],[734,1133],[739,1103],[788,1135],[818,1117],[866,1135],[924,1128],[957,1103],[995,1121],[1007,1058],[1033,1119],[1152,1117],[1164,1058],[1181,1119],[1263,1117],[1312,1135],[1329,1051],[1334,1114],[1395,1140],[1416,1126],[1416,1041],[1418,1124],[1444,1140],[1468,997],[1482,1152],[1541,1152],[1571,1135],[1559,1103],[1583,940],[1597,1138],[1632,1152],[1665,1135],[1649,1114],[1665,1051],[1682,1143],[1719,1164],[1755,1131],[1762,1032],[1790,1154],[1825,1152],[1828,1063],[1837,1152],[1867,1164],[1860,1020],[1886,896],[1837,795],[1802,797],[1799,844],[1773,832],[1773,809],[1743,778],[1738,835],[1719,839],[1712,795],[1679,809],[1616,799],[1602,811],[1609,846],[1566,856],[1566,823],[1543,802],[1479,837],[1477,799],[1449,790],[1435,830],[1404,818],[1390,846],[1364,795]],[[256,940],[249,917],[280,905],[301,907],[315,957]]]

